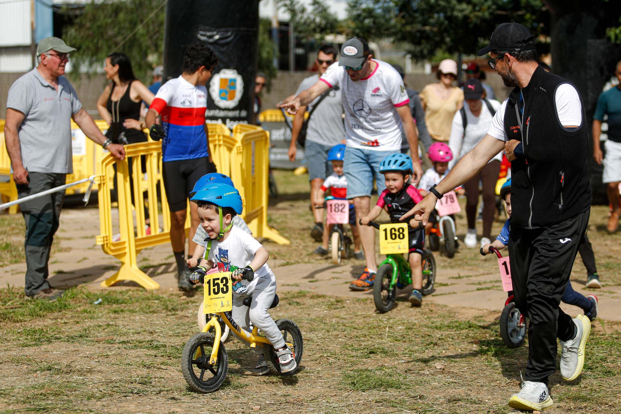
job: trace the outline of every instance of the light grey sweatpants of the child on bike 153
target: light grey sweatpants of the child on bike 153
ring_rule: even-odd
[[[256,277],[256,275],[255,275]],[[276,280],[270,280],[266,277],[260,277],[256,283],[255,290],[239,297],[233,297],[233,310],[232,316],[235,323],[240,328],[250,330],[250,321],[257,328],[261,329],[261,332],[267,339],[270,340],[272,346],[275,349],[284,347],[283,334],[280,333],[276,322],[271,318],[268,310],[272,302],[274,301],[274,295],[276,295]],[[248,296],[252,296],[252,304],[250,307],[243,305],[242,301]],[[263,347],[257,346],[255,348],[257,354],[263,354]]]

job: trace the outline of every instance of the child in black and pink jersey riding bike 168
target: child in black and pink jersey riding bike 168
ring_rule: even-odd
[[[406,154],[391,154],[384,158],[379,164],[379,172],[384,174],[386,180],[386,190],[382,191],[376,206],[369,211],[368,216],[361,219],[362,224],[376,219],[383,209],[388,212],[392,223],[401,223],[399,218],[410,209],[414,208],[421,200],[419,191],[410,184],[412,174],[412,159]],[[422,305],[422,257],[425,247],[425,230],[420,226],[420,221],[410,219],[409,221],[409,252],[408,261],[412,270],[412,293],[409,301],[413,306]],[[351,290],[367,290],[362,285],[366,281],[355,280],[351,283]],[[370,285],[373,286],[373,281]]]

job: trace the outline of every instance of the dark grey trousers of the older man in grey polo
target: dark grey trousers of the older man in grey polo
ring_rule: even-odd
[[[17,186],[18,198],[24,198],[41,191],[65,184],[66,174],[29,172],[30,182]],[[40,290],[50,287],[47,263],[54,233],[60,224],[60,210],[65,200],[65,191],[35,198],[20,204],[26,223],[24,251],[26,255],[26,296],[32,297]]]

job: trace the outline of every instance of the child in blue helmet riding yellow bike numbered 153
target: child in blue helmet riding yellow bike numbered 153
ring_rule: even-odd
[[[207,271],[217,265],[220,272],[233,272],[233,310],[235,323],[249,329],[250,322],[261,330],[278,354],[281,372],[296,369],[296,361],[291,349],[284,342],[278,326],[268,313],[276,295],[276,277],[267,265],[270,254],[265,247],[247,232],[233,226],[233,218],[242,213],[242,197],[233,186],[226,184],[207,185],[192,198],[198,205],[201,226],[207,232],[207,264],[190,276],[190,282],[199,283]],[[242,279],[242,275],[252,272],[252,282]],[[252,297],[252,305],[243,305],[245,298]],[[263,347],[257,346],[258,362],[253,370],[255,375],[270,372]]]

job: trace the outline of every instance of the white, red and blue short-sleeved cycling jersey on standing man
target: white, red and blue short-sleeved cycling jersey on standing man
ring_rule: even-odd
[[[183,76],[171,79],[157,91],[150,109],[161,115],[166,131],[166,138],[161,143],[163,161],[207,157],[205,86],[194,86]]]

